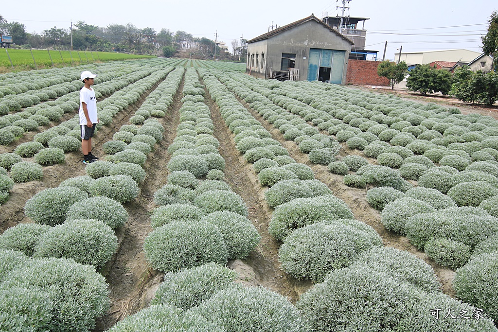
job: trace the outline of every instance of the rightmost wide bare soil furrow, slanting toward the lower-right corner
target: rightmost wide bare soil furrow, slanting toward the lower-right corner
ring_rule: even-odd
[[[240,100],[241,101],[241,100]],[[426,263],[432,266],[434,272],[438,276],[439,282],[442,284],[443,292],[450,296],[454,296],[454,291],[451,287],[455,272],[451,269],[441,267],[436,264],[432,259],[430,259],[424,252],[418,250],[416,247],[411,245],[410,241],[395,232],[388,231],[384,228],[380,222],[380,213],[373,209],[367,202],[367,190],[366,189],[356,189],[348,187],[344,184],[343,176],[332,174],[328,171],[327,166],[317,165],[309,161],[308,155],[302,153],[299,147],[293,142],[286,140],[282,133],[276,128],[274,128],[269,122],[267,122],[259,113],[253,111],[247,103],[241,101],[241,103],[248,109],[248,111],[261,122],[263,127],[270,132],[272,137],[285,147],[292,158],[297,162],[303,163],[311,167],[315,173],[315,178],[325,183],[334,193],[334,195],[343,201],[345,201],[353,212],[355,218],[359,221],[363,221],[371,225],[377,233],[382,238],[382,242],[385,246],[395,247],[400,250],[409,251],[415,254],[417,257],[423,259]],[[346,144],[341,144],[341,155],[358,154],[356,150],[350,150],[346,147]],[[363,153],[361,154],[362,156]],[[371,159],[371,158],[367,158]],[[373,159],[370,160],[372,162]]]

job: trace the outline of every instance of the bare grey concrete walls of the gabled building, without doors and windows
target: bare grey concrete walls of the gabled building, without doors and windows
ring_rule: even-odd
[[[331,50],[346,51],[346,59],[343,70],[343,84],[346,84],[346,73],[348,69],[348,57],[351,52],[351,43],[327,27],[316,21],[308,21],[287,31],[283,31],[267,40],[250,43],[248,54],[264,54],[264,78],[269,77],[271,70],[280,70],[282,53],[296,54],[295,68],[299,68],[299,80],[305,81],[308,76],[308,56],[310,48],[322,48]],[[259,53],[258,53],[259,52]],[[260,56],[259,56],[260,58]],[[247,66],[251,75],[262,77],[263,72],[254,70],[254,67]]]

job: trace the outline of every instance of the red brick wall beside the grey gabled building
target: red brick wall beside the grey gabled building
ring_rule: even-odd
[[[348,60],[346,84],[388,87],[389,80],[377,75],[377,66],[379,63],[379,61]]]

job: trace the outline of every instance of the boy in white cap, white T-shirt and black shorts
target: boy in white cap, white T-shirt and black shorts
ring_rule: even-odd
[[[83,163],[90,164],[98,157],[92,154],[92,137],[95,126],[99,123],[97,117],[97,98],[92,89],[96,74],[89,71],[81,73],[81,80],[85,86],[80,91],[80,127],[81,127],[81,149],[83,150]]]

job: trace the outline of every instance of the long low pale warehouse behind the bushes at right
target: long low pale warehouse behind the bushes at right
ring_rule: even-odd
[[[470,62],[478,57],[481,53],[466,49],[440,50],[440,51],[420,51],[420,52],[403,52],[394,54],[394,60],[406,62],[408,66],[420,64],[425,65],[433,61],[449,62]]]

